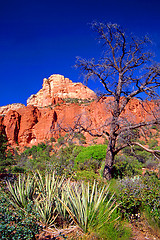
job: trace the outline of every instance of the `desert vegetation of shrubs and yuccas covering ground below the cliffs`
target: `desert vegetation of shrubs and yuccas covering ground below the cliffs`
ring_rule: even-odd
[[[0,238],[36,239],[52,229],[62,239],[76,239],[79,232],[86,240],[128,240],[126,221],[142,218],[160,231],[157,160],[140,147],[126,148],[116,156],[113,179],[107,182],[102,177],[107,145],[84,146],[82,134],[75,135],[76,145],[68,137],[23,152],[14,149],[13,155],[1,136],[1,166],[16,180],[1,181]],[[148,144],[159,149],[154,139]]]

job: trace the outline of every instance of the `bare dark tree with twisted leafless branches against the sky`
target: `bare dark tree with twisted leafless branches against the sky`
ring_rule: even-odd
[[[111,23],[94,22],[92,28],[102,43],[102,57],[98,61],[78,57],[76,66],[84,74],[86,82],[88,79],[99,80],[105,89],[105,96],[113,97],[112,119],[108,131],[103,128],[99,133],[93,133],[89,127],[83,127],[80,121],[76,123],[76,127],[79,131],[88,131],[92,135],[108,136],[104,177],[110,179],[115,155],[129,145],[139,144],[130,137],[131,133],[142,126],[160,123],[158,113],[155,113],[152,114],[151,121],[121,124],[121,116],[131,99],[139,97],[143,102],[146,98],[159,98],[160,65],[153,62],[153,56],[148,51],[151,42],[146,36],[143,39],[132,34],[128,36],[119,25]],[[120,138],[124,141],[119,141]],[[145,148],[141,144],[139,146],[158,154],[158,151]]]

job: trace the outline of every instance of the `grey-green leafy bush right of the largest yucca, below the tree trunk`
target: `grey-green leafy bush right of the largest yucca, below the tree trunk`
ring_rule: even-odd
[[[160,180],[153,174],[145,177],[124,178],[118,182],[117,197],[123,217],[137,218],[149,213],[160,226]]]

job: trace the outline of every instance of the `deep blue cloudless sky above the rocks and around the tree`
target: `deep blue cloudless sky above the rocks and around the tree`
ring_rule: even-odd
[[[26,104],[51,74],[79,81],[75,57],[100,50],[88,25],[93,20],[148,33],[160,61],[159,0],[0,0],[0,106]]]

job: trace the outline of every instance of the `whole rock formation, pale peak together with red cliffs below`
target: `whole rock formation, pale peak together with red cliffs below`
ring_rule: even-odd
[[[19,104],[1,107],[0,132],[6,133],[12,145],[18,143],[20,146],[31,146],[51,137],[58,138],[58,124],[68,128],[79,120],[90,129],[106,124],[109,128],[113,98],[104,97],[85,104],[67,103],[64,98],[93,99],[96,94],[81,83],[73,83],[61,75],[52,75],[48,80],[44,79],[43,88],[28,99],[27,107]],[[22,107],[19,108],[20,106]],[[154,102],[146,101],[142,105],[138,99],[132,99],[120,120],[123,123],[151,120],[155,107]],[[62,131],[61,134],[65,132]],[[93,140],[89,134],[85,133],[85,136],[88,142]]]

